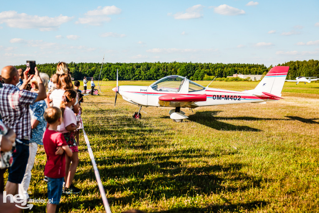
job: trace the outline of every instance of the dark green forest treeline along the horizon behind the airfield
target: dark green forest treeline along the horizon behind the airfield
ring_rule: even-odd
[[[41,72],[49,76],[56,72],[58,63],[38,64]],[[74,63],[68,64],[71,75],[75,80],[82,80],[84,76],[99,78],[101,63]],[[298,76],[319,76],[319,61],[290,61],[278,66],[290,66],[287,78]],[[26,68],[26,65],[16,66]],[[271,66],[272,67],[272,66]],[[144,62],[144,63],[105,63],[101,70],[100,80],[116,80],[116,69],[119,71],[119,80],[158,80],[167,75],[187,76],[190,80],[209,80],[213,76],[225,78],[233,74],[265,75],[271,67],[263,64],[222,64],[222,63],[192,63],[192,62]],[[312,77],[312,76],[310,76]]]

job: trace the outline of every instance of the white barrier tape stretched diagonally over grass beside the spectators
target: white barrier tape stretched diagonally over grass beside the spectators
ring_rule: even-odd
[[[83,130],[83,134],[84,134],[85,143],[86,143],[86,146],[87,146],[87,151],[89,152],[89,155],[90,155],[90,158],[91,158],[91,161],[92,161],[92,165],[93,165],[93,170],[94,170],[94,174],[95,174],[95,177],[96,177],[96,181],[98,182],[98,186],[99,186],[99,189],[100,189],[100,193],[101,193],[102,201],[103,201],[103,204],[104,204],[104,208],[106,210],[106,213],[111,213],[110,206],[108,205],[108,199],[106,198],[105,191],[104,191],[104,188],[103,188],[103,184],[102,184],[102,181],[101,181],[101,178],[100,178],[100,173],[99,173],[99,170],[98,170],[98,168],[96,166],[94,155],[93,155],[93,151],[92,151],[91,146],[90,146],[90,141],[89,141],[89,138],[87,138],[87,135],[86,135],[86,133],[84,131],[83,125],[82,125],[82,130]]]

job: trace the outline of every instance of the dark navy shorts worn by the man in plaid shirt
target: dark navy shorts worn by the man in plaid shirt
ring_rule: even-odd
[[[13,162],[9,167],[8,181],[11,183],[20,184],[22,182],[24,173],[26,172],[26,164],[29,159],[29,141],[20,139],[23,144],[16,142],[16,150],[12,153]]]

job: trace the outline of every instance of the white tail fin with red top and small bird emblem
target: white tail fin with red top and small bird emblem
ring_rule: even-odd
[[[270,93],[281,97],[281,91],[284,86],[289,67],[272,67],[267,75],[263,77],[255,89],[250,90],[253,93]]]

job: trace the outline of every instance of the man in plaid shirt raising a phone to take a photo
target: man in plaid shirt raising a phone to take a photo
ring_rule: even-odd
[[[27,68],[27,75],[30,68]],[[6,126],[16,133],[16,151],[12,154],[13,163],[9,168],[8,181],[5,186],[7,194],[18,194],[18,184],[21,183],[26,164],[29,158],[29,140],[31,138],[31,118],[29,105],[34,102],[44,100],[46,95],[45,87],[39,76],[39,71],[35,68],[35,77],[39,85],[39,93],[20,90],[16,84],[19,83],[19,73],[13,66],[4,67],[1,70],[4,80],[3,88],[0,90],[0,113],[2,121]],[[30,76],[24,82],[28,83]]]

